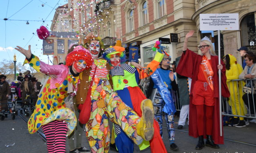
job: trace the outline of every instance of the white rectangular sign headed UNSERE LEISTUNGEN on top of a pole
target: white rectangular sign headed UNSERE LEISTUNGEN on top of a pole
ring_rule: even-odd
[[[239,30],[238,13],[200,14],[200,31]]]

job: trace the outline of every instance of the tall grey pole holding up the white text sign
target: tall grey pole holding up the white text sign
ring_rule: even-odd
[[[220,65],[220,31],[218,30],[218,65]],[[221,70],[219,69],[219,109],[220,109],[220,136],[222,136],[222,115],[221,115]]]

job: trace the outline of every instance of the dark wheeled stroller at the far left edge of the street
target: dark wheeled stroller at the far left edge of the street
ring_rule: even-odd
[[[0,104],[0,119],[4,120],[5,115],[7,114],[11,114],[11,119],[15,119],[15,115],[18,114],[18,112],[16,111],[16,105],[17,105],[17,101],[16,99],[18,98],[17,96],[13,96],[13,98],[11,98],[11,96],[9,96],[8,98],[8,102],[7,102],[7,107],[2,107],[3,104]],[[7,110],[6,110],[7,109]]]

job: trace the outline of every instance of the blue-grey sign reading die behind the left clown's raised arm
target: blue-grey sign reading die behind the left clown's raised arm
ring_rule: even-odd
[[[43,55],[63,55],[70,44],[79,41],[77,33],[50,31],[49,34],[43,40]]]

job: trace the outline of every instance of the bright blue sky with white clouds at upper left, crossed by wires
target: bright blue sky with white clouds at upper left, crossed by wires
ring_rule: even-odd
[[[28,49],[31,45],[32,54],[48,63],[48,56],[42,55],[42,39],[38,38],[36,29],[43,25],[50,31],[55,9],[67,3],[68,0],[0,0],[0,61],[13,60],[15,53],[17,63],[23,63],[24,55],[14,48],[21,46]],[[27,21],[29,24],[26,24]],[[52,61],[52,56],[49,57]]]

